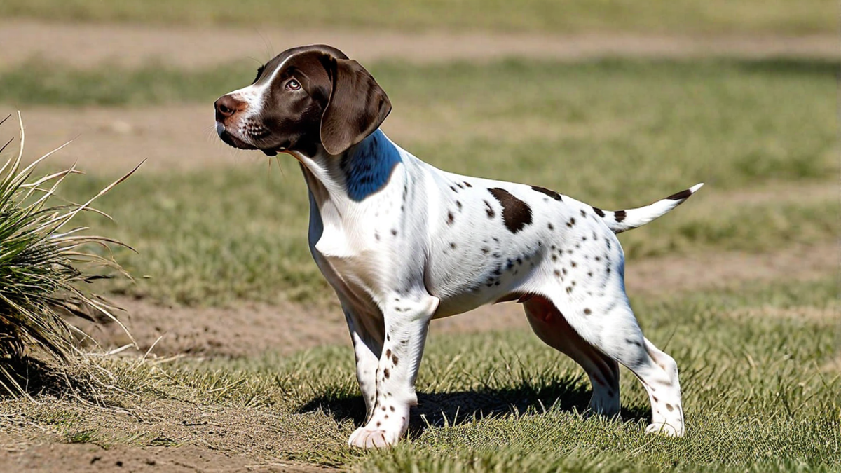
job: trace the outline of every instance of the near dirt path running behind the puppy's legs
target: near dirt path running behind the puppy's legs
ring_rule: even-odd
[[[838,274],[839,246],[783,248],[771,254],[719,252],[691,257],[650,258],[627,266],[631,295],[670,295],[772,280],[810,280]],[[246,305],[230,309],[171,308],[142,300],[118,300],[130,314],[128,325],[140,349],[193,356],[249,356],[294,353],[322,344],[348,342],[344,317],[331,306]],[[645,314],[639,314],[645,320]],[[484,306],[460,316],[432,322],[431,336],[526,328],[519,305]],[[93,332],[108,347],[129,343],[117,327]],[[160,338],[160,340],[159,340]]]

